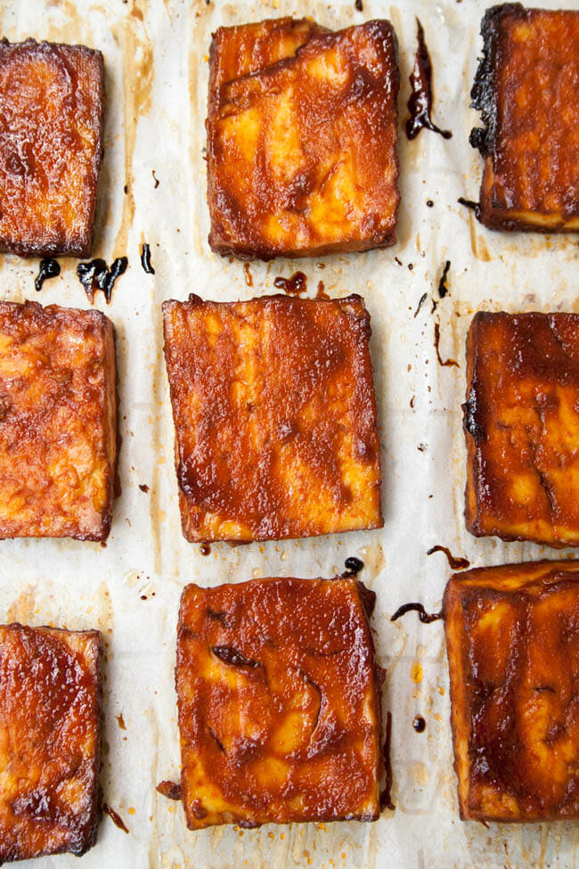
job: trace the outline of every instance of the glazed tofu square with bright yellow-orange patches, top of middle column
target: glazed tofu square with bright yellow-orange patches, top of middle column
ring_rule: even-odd
[[[209,244],[314,257],[396,241],[396,36],[280,18],[219,28],[208,98]]]

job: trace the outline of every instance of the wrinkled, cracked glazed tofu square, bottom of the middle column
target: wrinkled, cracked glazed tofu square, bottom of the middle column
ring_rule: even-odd
[[[175,682],[190,829],[378,818],[374,601],[343,578],[184,589]]]

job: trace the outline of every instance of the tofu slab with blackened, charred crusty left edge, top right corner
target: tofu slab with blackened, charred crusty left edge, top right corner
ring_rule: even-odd
[[[470,92],[483,129],[480,221],[492,229],[579,232],[579,12],[494,6]]]

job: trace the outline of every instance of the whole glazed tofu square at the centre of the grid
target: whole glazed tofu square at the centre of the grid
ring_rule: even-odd
[[[187,540],[381,527],[363,299],[192,295],[163,312]]]

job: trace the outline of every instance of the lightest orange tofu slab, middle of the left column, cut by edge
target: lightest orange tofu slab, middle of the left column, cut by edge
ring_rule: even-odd
[[[110,320],[0,302],[0,538],[105,540],[116,466]]]

